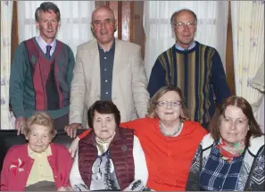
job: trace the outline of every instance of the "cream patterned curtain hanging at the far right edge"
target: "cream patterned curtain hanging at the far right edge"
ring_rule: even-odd
[[[264,131],[264,93],[260,92],[264,81],[263,85],[259,83],[259,76],[264,76],[264,71],[260,74],[264,69],[264,1],[231,1],[231,19],[236,95],[253,104]],[[258,79],[253,85],[256,74]]]

